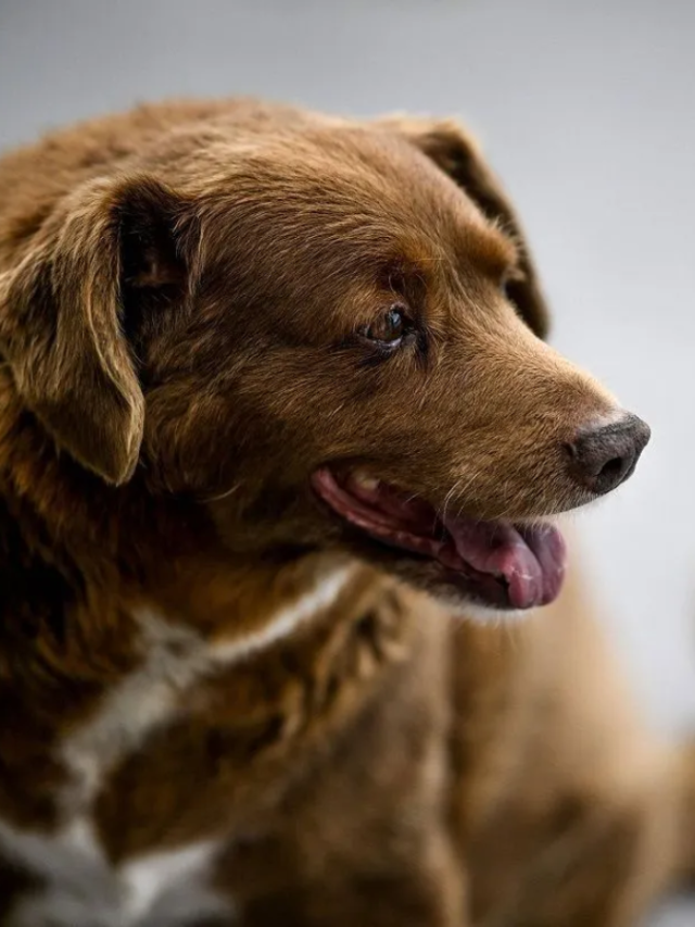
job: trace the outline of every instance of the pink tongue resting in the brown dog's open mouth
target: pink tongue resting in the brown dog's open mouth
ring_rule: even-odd
[[[501,522],[446,518],[456,553],[478,573],[505,579],[509,603],[530,609],[552,602],[565,574],[565,542],[549,525],[515,528]]]

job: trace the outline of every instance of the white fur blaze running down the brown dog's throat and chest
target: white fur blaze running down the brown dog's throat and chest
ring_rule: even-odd
[[[329,607],[351,572],[341,567],[323,577],[264,628],[239,640],[210,642],[191,628],[151,613],[138,615],[141,664],[62,744],[68,772],[59,796],[62,828],[47,836],[0,822],[0,852],[43,882],[14,907],[8,927],[184,927],[223,915],[230,923],[230,902],[208,886],[222,841],[152,853],[115,867],[90,823],[93,800],[114,766],[176,717],[198,680],[270,647]]]

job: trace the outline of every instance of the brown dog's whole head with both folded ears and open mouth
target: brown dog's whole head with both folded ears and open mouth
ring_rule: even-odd
[[[541,519],[646,443],[541,340],[515,216],[452,125],[308,125],[67,209],[4,281],[17,386],[230,553],[343,547],[448,601],[542,604],[565,555]]]

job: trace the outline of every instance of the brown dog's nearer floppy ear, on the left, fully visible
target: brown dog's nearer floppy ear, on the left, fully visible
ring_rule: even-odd
[[[0,277],[0,352],[20,396],[60,448],[115,485],[132,475],[144,421],[123,290],[180,276],[176,211],[150,178],[90,183]]]

